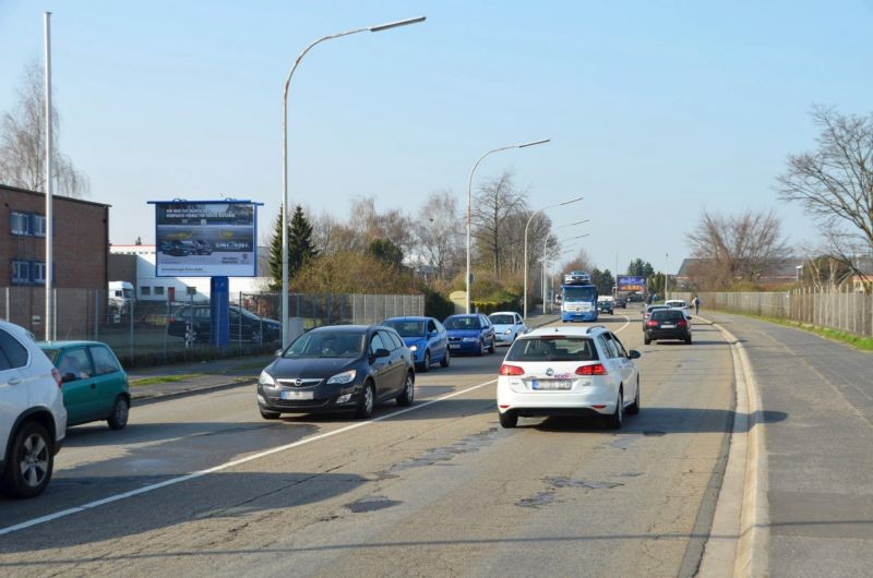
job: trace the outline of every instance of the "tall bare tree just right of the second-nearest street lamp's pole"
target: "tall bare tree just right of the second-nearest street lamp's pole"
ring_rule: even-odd
[[[519,191],[511,170],[486,182],[476,195],[473,209],[474,236],[479,255],[493,264],[494,277],[500,279],[502,252],[506,244],[507,219],[527,208],[527,191]]]

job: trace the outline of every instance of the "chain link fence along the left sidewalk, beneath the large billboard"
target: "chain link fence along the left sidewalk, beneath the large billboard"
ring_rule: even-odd
[[[280,346],[275,323],[279,320],[278,293],[230,294],[230,342],[225,347],[208,342],[210,302],[202,299],[119,303],[107,301],[106,291],[93,289],[56,289],[52,299],[55,324],[48,334],[52,339],[105,341],[127,368],[272,352]],[[45,290],[0,288],[0,314],[39,340],[47,335],[45,312]],[[288,299],[288,316],[301,330],[423,314],[424,297],[420,294],[294,293]]]

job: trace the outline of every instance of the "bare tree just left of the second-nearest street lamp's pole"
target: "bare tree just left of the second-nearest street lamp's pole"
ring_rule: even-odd
[[[464,222],[458,216],[457,201],[449,191],[433,192],[418,212],[418,251],[424,262],[436,269],[436,278],[454,275],[454,257],[462,246]]]

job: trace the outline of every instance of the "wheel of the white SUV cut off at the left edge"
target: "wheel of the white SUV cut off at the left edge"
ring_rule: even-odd
[[[11,497],[41,494],[55,466],[51,438],[46,429],[34,421],[25,423],[12,439],[9,458],[0,490]]]

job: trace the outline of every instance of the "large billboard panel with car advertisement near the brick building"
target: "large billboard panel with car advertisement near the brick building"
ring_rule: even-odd
[[[157,277],[254,277],[258,206],[251,201],[150,201]]]

